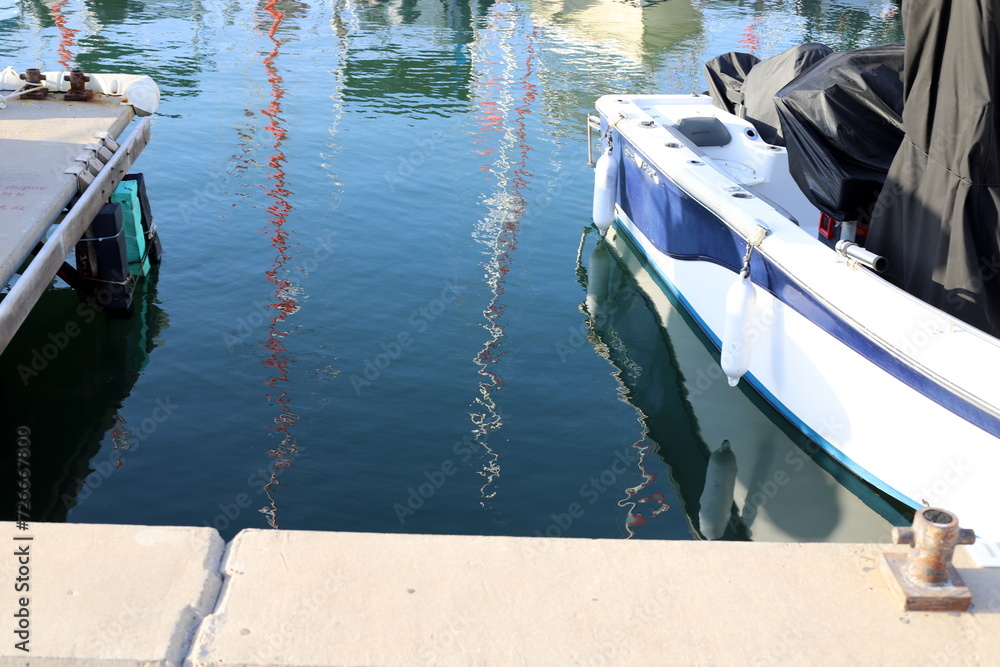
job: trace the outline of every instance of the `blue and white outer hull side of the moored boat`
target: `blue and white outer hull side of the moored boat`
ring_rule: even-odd
[[[648,120],[644,127],[649,127]],[[619,184],[609,233],[628,239],[648,261],[661,287],[676,296],[719,347],[726,293],[737,279],[747,248],[748,216],[727,216],[727,207],[732,210],[728,200],[708,200],[695,192],[705,180],[702,174],[691,173],[697,169],[671,169],[671,164],[656,159],[654,150],[634,139],[646,135],[628,134],[614,134],[620,151]],[[687,162],[697,162],[697,157],[708,162],[695,155]],[[699,168],[713,169],[709,164]],[[711,178],[719,181],[719,175],[715,170]],[[723,189],[739,190],[740,185],[734,181]],[[753,213],[763,210],[759,202],[756,205]],[[841,265],[820,271],[839,269],[846,275],[858,269],[837,260],[832,250],[817,249],[821,244],[806,238],[789,216],[770,212],[752,218],[781,240],[771,244],[775,247],[770,252],[769,239],[760,252],[752,253],[757,307],[749,330],[753,353],[744,381],[870,484],[912,507],[948,508],[963,525],[988,540],[1000,540],[1000,523],[990,511],[995,499],[993,475],[1000,470],[1000,419],[995,411],[911,360],[905,336],[903,345],[887,344],[877,326],[873,333],[859,322],[857,313],[844,312],[835,300],[825,298],[821,289],[829,278],[825,273],[817,273],[823,279],[817,287],[789,271],[792,262],[783,261],[782,251],[793,252],[797,243],[808,246],[808,253],[819,261]],[[886,301],[887,294],[898,296],[901,312],[914,311],[912,299],[883,287],[869,294],[861,291],[862,285],[850,294],[850,285],[838,284],[837,291],[852,304],[872,301],[862,304],[872,312],[894,307]],[[921,337],[933,337],[940,328],[940,313],[927,308],[923,317],[921,321],[918,312],[911,327],[914,347],[919,347]],[[983,341],[978,337],[976,342]],[[705,369],[705,374],[713,382],[726,382],[717,366]]]

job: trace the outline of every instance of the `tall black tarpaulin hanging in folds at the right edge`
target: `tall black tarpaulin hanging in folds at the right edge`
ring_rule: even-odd
[[[903,8],[906,137],[872,214],[867,246],[891,279],[1000,335],[998,0]]]

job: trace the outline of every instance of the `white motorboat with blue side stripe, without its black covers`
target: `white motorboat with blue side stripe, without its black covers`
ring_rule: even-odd
[[[765,142],[711,96],[610,95],[596,106],[595,222],[721,350],[725,371],[710,369],[712,381],[750,384],[909,506],[954,512],[976,530],[979,562],[1000,564],[996,331],[882,277],[875,269],[894,259],[852,243],[852,225],[836,249],[820,240],[791,143]],[[992,289],[995,276],[979,278]]]

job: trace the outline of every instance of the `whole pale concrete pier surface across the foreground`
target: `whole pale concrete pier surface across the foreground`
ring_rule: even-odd
[[[855,544],[0,524],[5,664],[995,665],[1000,569],[903,612]],[[30,540],[15,538],[30,537]]]

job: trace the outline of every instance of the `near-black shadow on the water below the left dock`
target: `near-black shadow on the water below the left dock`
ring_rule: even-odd
[[[16,433],[30,429],[31,519],[65,521],[156,429],[155,413],[129,424],[118,411],[168,327],[157,303],[157,272],[139,281],[128,318],[81,302],[71,289],[50,289],[0,355],[6,434],[0,487],[8,498],[0,520],[15,518]],[[100,455],[109,433],[113,448]]]

